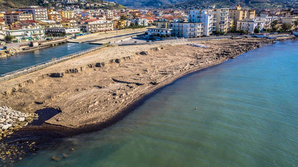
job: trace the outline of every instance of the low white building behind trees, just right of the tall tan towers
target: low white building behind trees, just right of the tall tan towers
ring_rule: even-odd
[[[253,33],[255,28],[259,28],[260,32],[263,32],[264,21],[256,19],[237,21],[237,30],[246,30],[249,33]]]

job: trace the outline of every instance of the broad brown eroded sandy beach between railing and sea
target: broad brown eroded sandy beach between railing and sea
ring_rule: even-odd
[[[111,46],[1,82],[0,102],[24,113],[61,110],[46,121],[51,125],[105,124],[130,104],[183,75],[274,41],[243,38]]]

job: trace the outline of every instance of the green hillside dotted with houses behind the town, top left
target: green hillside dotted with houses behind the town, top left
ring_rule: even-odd
[[[56,2],[61,2],[60,0],[56,1],[51,1],[50,3],[43,3],[43,0],[0,0],[0,11],[13,11],[16,10],[20,7],[27,7],[27,6],[43,6],[43,7],[48,7],[48,6],[54,6],[56,8],[59,8],[56,6]],[[87,0],[86,2],[88,3],[102,3],[105,1],[102,0]],[[80,5],[80,8],[84,9],[84,6],[82,6],[79,3],[73,3],[73,4],[64,4],[64,6],[69,6],[69,5]],[[96,7],[90,7],[90,8],[96,8]],[[109,4],[106,6],[101,7],[102,9],[118,9],[118,8],[124,8],[124,6],[121,6],[119,4]],[[86,8],[88,9],[88,8]]]

